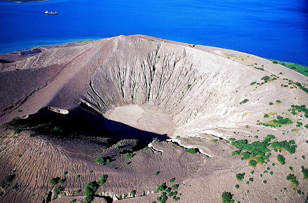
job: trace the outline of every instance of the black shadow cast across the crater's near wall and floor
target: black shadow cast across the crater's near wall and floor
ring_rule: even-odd
[[[169,139],[166,134],[143,131],[109,120],[84,103],[70,110],[68,114],[56,113],[44,107],[28,118],[10,121],[8,124],[14,127],[21,126],[23,129],[50,138],[87,139],[88,143],[101,144],[105,147],[110,147],[123,139],[136,139],[140,140],[138,148],[141,149],[151,143],[153,138]],[[107,139],[100,141],[98,138]]]

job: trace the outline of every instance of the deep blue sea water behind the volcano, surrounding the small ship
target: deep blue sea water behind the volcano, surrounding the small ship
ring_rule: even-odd
[[[0,54],[143,34],[308,65],[306,0],[0,1],[0,22]]]

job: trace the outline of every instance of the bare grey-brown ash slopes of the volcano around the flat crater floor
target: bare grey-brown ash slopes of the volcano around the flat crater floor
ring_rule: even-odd
[[[301,166],[308,165],[301,156],[308,157],[308,132],[303,127],[308,119],[302,112],[290,114],[288,110],[291,105],[308,106],[308,94],[295,84],[307,87],[307,77],[250,54],[193,47],[144,35],[121,35],[83,46],[41,49],[41,53],[24,60],[0,64],[0,119],[8,122],[18,116],[24,117],[18,122],[38,124],[39,120],[66,130],[61,136],[37,131],[41,136],[29,138],[29,132],[38,128],[27,128],[16,135],[16,123],[10,123],[13,127],[2,132],[0,174],[4,180],[15,170],[16,177],[10,186],[1,188],[1,201],[48,201],[45,194],[55,188],[48,180],[68,171],[62,195],[74,195],[87,182],[107,174],[107,182],[97,194],[109,196],[114,202],[156,201],[160,196],[153,193],[156,185],[172,177],[176,177],[178,193],[182,193],[178,202],[220,202],[225,191],[241,202],[276,202],[275,198],[281,202],[304,202],[308,188]],[[268,78],[264,80],[264,76]],[[136,141],[111,135],[102,125],[106,119],[102,115],[131,104],[159,106],[173,118],[177,127],[163,137],[167,141],[153,141],[148,150],[139,150]],[[48,106],[68,114],[42,116],[38,111]],[[271,123],[277,115],[290,118],[293,123],[281,127],[262,125]],[[296,126],[297,122],[303,125]],[[161,135],[155,132],[155,126],[149,129],[154,129],[149,136]],[[229,138],[262,141],[268,134],[275,135],[277,141],[294,139],[296,152],[272,151],[268,164],[255,168],[248,166],[248,160],[231,156],[236,148],[227,143]],[[90,142],[94,137],[99,141]],[[125,151],[115,150],[116,145],[128,146],[136,155],[127,160]],[[200,153],[191,155],[184,152],[185,148],[197,148]],[[278,154],[285,156],[285,165],[278,163]],[[94,164],[95,157],[101,155],[114,155],[115,160],[105,166]],[[126,161],[131,163],[125,165]],[[273,175],[263,173],[267,168],[273,170]],[[89,173],[91,170],[94,172]],[[249,173],[252,170],[254,174]],[[157,171],[159,175],[154,176]],[[239,182],[235,175],[242,172],[246,176],[244,182]],[[298,178],[296,190],[286,180],[289,173]],[[76,175],[81,175],[81,180]],[[245,184],[249,177],[254,181]],[[14,184],[18,189],[11,189]],[[234,187],[236,184],[239,189]],[[140,197],[124,198],[132,197],[132,190]],[[298,194],[298,190],[304,194]],[[95,197],[95,201],[99,199]],[[167,202],[174,200],[169,197]]]

